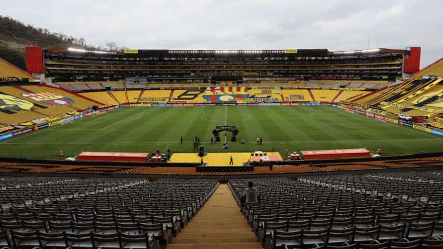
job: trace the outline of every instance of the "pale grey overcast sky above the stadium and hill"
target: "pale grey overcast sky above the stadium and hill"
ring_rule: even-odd
[[[443,57],[443,0],[1,0],[0,15],[134,49],[422,47]],[[377,44],[378,33],[378,44]]]

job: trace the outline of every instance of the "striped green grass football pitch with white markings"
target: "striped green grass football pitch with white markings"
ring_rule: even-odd
[[[384,156],[443,151],[443,140],[430,133],[356,115],[330,106],[124,107],[63,126],[53,126],[0,143],[0,157],[60,159],[82,151],[155,152],[169,148],[192,152],[195,136],[206,152],[217,125],[235,125],[238,141],[231,152],[271,151],[282,157],[301,150],[367,148]],[[183,144],[179,138],[183,136]],[[263,145],[257,145],[262,136]],[[228,133],[228,141],[230,134]],[[222,137],[222,140],[224,138]]]

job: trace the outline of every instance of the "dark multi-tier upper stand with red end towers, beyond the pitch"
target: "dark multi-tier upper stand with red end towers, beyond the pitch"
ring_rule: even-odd
[[[310,80],[395,82],[419,71],[406,49],[138,50],[26,49],[28,72],[52,82],[259,83]]]

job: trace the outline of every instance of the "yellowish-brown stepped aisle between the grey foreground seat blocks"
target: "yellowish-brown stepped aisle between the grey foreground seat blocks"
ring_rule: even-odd
[[[218,186],[167,249],[263,249],[229,190]]]

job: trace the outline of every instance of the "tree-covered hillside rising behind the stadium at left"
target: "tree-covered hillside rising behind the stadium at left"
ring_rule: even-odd
[[[51,33],[46,28],[26,25],[9,16],[0,15],[0,58],[26,70],[24,50],[26,46],[40,46],[45,49],[61,47],[83,47],[100,50],[119,50],[113,43],[106,43],[107,48],[95,48],[86,43],[84,38],[75,38],[63,33]]]

